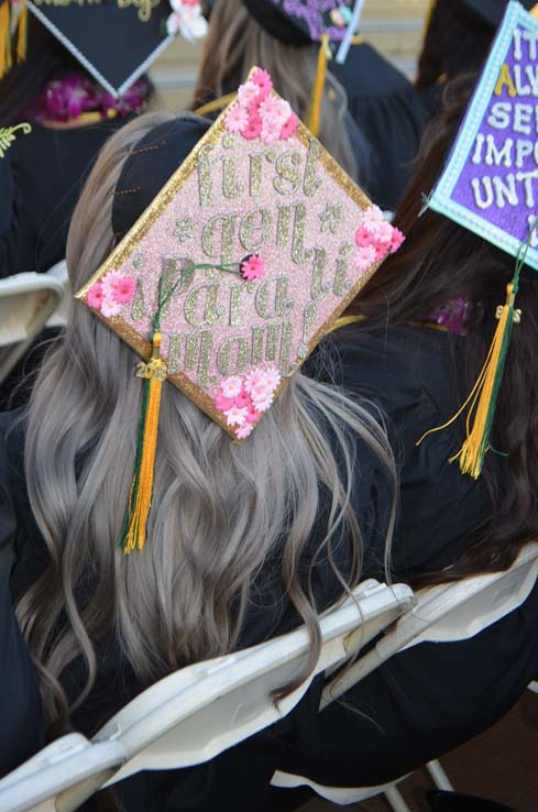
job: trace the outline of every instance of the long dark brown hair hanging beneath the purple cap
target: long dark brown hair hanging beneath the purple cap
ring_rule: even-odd
[[[425,206],[458,133],[474,83],[474,76],[462,77],[447,87],[443,112],[425,134],[415,176],[395,215],[406,242],[388,257],[366,286],[361,301],[351,308],[369,316],[366,329],[384,330],[387,325],[428,320],[450,300],[466,299],[471,306],[466,336],[457,339],[454,347],[461,373],[461,403],[486,359],[497,326],[496,308],[506,298],[506,285],[515,266],[515,260],[504,251]],[[520,281],[517,307],[524,317],[512,333],[497,402],[493,446],[503,457],[490,452],[482,474],[494,495],[495,511],[477,528],[476,545],[461,566],[438,573],[438,580],[506,566],[523,544],[538,535],[536,273],[528,271]],[[450,417],[451,414],[446,415],[447,419]],[[499,467],[502,475],[497,478]]]

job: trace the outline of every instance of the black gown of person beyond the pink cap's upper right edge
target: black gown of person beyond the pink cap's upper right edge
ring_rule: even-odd
[[[352,45],[345,63],[333,61],[330,70],[372,145],[367,191],[377,206],[394,211],[409,179],[428,110],[404,74],[367,43]]]

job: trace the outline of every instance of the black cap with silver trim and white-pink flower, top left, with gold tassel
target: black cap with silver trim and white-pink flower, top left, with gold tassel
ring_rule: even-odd
[[[26,7],[113,96],[125,92],[176,34],[193,41],[207,31],[199,0],[3,0],[4,56],[17,19],[17,50],[24,56]]]

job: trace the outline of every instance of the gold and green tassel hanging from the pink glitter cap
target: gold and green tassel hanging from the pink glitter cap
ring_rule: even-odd
[[[136,366],[136,376],[144,378],[144,393],[129,508],[119,539],[125,555],[143,550],[146,540],[147,517],[153,497],[161,394],[167,374],[166,362],[161,358],[161,333],[156,330],[152,339],[151,360]]]

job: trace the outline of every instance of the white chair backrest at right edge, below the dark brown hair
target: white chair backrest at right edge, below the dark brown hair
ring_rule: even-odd
[[[524,547],[504,572],[474,575],[416,594],[416,605],[395,628],[323,691],[323,709],[398,651],[419,643],[463,640],[514,612],[529,596],[538,578],[538,544]]]

